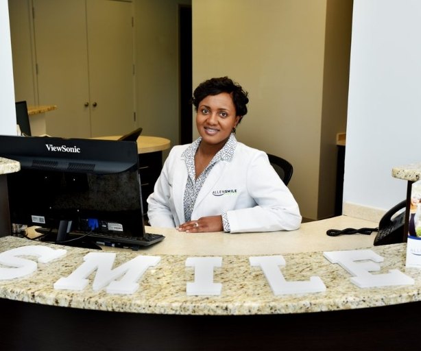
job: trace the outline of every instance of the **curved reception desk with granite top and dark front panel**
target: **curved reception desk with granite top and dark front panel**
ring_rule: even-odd
[[[406,244],[373,247],[375,233],[328,237],[330,228],[374,227],[339,216],[303,223],[293,232],[165,234],[161,243],[115,252],[115,266],[136,256],[159,256],[139,289],[116,295],[93,290],[93,275],[82,291],[53,284],[84,262],[88,250],[3,237],[1,252],[23,245],[65,248],[67,255],[38,263],[30,276],[0,281],[2,350],[398,350],[416,347],[421,271],[405,268]],[[324,252],[370,249],[383,256],[381,271],[398,269],[413,285],[360,288],[352,276],[324,258]],[[285,280],[318,276],[326,291],[274,295],[262,269],[250,257],[282,255]],[[187,258],[219,256],[214,281],[220,295],[187,295],[195,279]],[[361,263],[365,264],[365,263]]]

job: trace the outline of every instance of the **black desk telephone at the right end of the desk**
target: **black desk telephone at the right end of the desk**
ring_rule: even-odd
[[[378,223],[378,232],[374,238],[374,245],[389,245],[403,242],[405,224],[405,210],[407,200],[399,202],[385,213]]]

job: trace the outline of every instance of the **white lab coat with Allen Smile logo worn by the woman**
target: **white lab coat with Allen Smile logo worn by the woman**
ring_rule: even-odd
[[[171,149],[147,199],[149,223],[176,227],[184,223],[184,189],[187,166],[182,153],[189,145]],[[206,178],[191,219],[226,211],[230,232],[295,230],[301,215],[293,195],[280,180],[265,152],[237,143],[232,160],[219,161]]]

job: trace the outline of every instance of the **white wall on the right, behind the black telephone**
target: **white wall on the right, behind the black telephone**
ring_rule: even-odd
[[[421,1],[354,0],[346,137],[344,214],[405,199],[392,168],[421,162]]]

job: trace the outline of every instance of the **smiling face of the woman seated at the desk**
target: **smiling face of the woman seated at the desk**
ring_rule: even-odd
[[[208,95],[197,108],[196,127],[202,142],[223,147],[239,119],[230,94]]]

